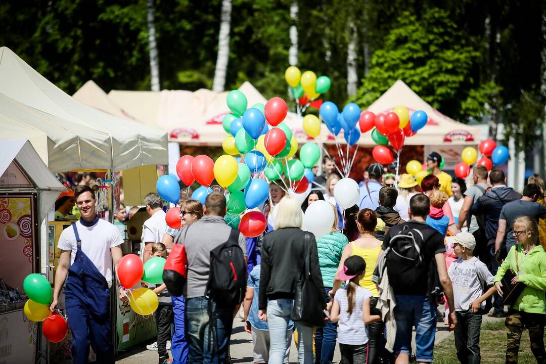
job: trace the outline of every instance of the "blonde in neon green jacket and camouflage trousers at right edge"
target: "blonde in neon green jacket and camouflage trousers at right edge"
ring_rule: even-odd
[[[510,249],[495,276],[495,287],[501,296],[503,287],[500,281],[508,269],[517,272],[512,283],[525,284],[525,289],[509,308],[506,317],[506,362],[518,362],[521,333],[527,327],[535,359],[538,363],[546,363],[543,341],[546,321],[546,253],[538,243],[538,225],[530,217],[516,219],[513,234],[517,244]]]

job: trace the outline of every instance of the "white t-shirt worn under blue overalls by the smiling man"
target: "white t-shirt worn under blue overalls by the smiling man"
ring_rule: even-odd
[[[81,240],[81,251],[87,255],[98,271],[106,278],[108,287],[112,286],[112,255],[110,248],[117,247],[123,243],[120,230],[114,224],[99,219],[93,226],[84,226],[80,221],[76,221],[76,228]],[[69,226],[64,229],[59,237],[57,247],[61,250],[72,250],[70,254],[70,264],[74,263],[78,245],[74,228]]]

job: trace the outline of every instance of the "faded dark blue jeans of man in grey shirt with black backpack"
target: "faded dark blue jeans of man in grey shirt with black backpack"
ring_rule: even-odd
[[[213,320],[209,317],[209,305],[211,305]],[[211,324],[212,337],[210,337]],[[188,362],[192,364],[225,363],[228,360],[232,325],[233,307],[217,305],[216,302],[209,301],[204,296],[186,299]]]

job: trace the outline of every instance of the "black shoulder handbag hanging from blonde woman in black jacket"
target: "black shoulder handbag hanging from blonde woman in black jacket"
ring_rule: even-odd
[[[302,277],[296,282],[294,294],[294,307],[292,308],[292,320],[301,321],[306,326],[323,327],[323,309],[326,308],[326,299],[322,290],[311,281],[311,259],[309,233],[304,235],[305,268]]]

